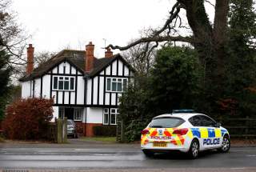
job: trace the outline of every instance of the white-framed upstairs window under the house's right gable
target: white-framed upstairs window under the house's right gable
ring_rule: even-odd
[[[123,92],[127,88],[127,78],[106,78],[106,91]]]

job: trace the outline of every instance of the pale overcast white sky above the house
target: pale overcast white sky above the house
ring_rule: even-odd
[[[92,41],[95,54],[112,43],[125,46],[140,30],[162,26],[171,0],[13,0],[18,22],[32,38],[35,51],[84,50]]]

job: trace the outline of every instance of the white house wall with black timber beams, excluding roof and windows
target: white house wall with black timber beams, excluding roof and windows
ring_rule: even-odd
[[[101,126],[103,123],[103,108],[117,108],[119,98],[122,96],[122,93],[106,91],[106,79],[130,78],[132,75],[126,63],[119,58],[94,78],[87,78],[87,80],[84,74],[70,62],[61,62],[41,78],[22,82],[22,98],[33,97],[33,95],[54,98],[54,118],[58,118],[59,107],[86,106],[82,115],[84,133],[86,136],[93,136],[93,127]],[[53,90],[54,76],[74,77],[74,90]]]

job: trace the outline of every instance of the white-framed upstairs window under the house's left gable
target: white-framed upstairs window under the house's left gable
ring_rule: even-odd
[[[53,90],[74,90],[74,77],[54,77]]]

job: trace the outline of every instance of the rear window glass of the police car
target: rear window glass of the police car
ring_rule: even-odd
[[[170,118],[170,117],[162,117],[162,118],[153,118],[150,122],[150,128],[174,128],[182,125],[185,122],[182,118]]]

